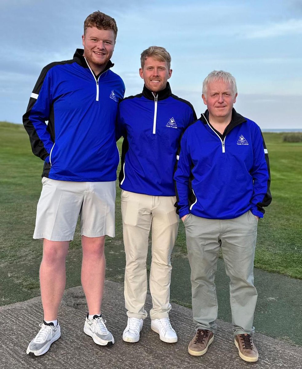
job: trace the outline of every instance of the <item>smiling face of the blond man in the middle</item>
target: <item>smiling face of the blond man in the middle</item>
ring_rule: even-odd
[[[144,79],[145,86],[153,93],[165,89],[171,74],[172,69],[168,69],[167,62],[161,62],[152,56],[146,58],[143,68],[140,68],[140,76]]]

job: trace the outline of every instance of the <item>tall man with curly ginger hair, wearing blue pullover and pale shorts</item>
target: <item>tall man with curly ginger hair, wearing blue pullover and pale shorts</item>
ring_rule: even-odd
[[[101,314],[105,235],[114,237],[117,104],[125,86],[113,73],[113,18],[100,11],[84,24],[72,60],[43,68],[23,116],[32,151],[44,161],[34,238],[43,240],[40,267],[44,321],[27,354],[48,351],[60,335],[57,315],[65,289],[65,259],[80,215],[82,286],[88,314],[84,332],[98,345],[113,344]],[[48,124],[45,122],[48,121]]]

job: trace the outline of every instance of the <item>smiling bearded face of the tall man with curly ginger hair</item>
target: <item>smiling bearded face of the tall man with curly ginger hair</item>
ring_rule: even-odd
[[[109,62],[114,50],[115,34],[113,30],[99,30],[87,27],[82,36],[84,56],[90,68],[98,75]]]

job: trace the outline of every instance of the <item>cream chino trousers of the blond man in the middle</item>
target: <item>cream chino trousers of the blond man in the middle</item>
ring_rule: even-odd
[[[168,318],[171,305],[171,252],[178,231],[175,196],[150,196],[122,190],[121,213],[126,253],[124,296],[128,317],[144,319],[147,296],[148,237],[151,229],[152,261],[149,286],[151,320]]]

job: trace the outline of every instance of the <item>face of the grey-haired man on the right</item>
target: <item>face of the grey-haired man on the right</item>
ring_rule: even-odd
[[[210,117],[231,118],[237,93],[234,94],[230,83],[217,80],[207,84],[206,94],[202,94],[203,102],[209,110]]]

